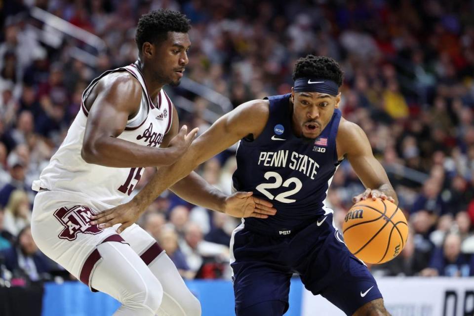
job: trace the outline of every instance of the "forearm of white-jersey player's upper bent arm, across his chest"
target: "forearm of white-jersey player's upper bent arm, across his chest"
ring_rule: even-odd
[[[170,165],[178,158],[171,148],[148,147],[114,137],[84,144],[81,157],[88,163],[116,168]]]

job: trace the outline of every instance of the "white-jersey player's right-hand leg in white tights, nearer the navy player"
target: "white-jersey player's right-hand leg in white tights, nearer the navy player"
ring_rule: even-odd
[[[120,236],[130,244],[161,282],[164,294],[160,309],[169,315],[199,316],[199,301],[188,289],[176,266],[155,238],[136,224],[125,229]]]

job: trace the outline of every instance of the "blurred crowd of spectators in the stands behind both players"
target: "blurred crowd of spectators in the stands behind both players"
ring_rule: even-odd
[[[186,76],[234,107],[290,92],[292,69],[308,53],[338,61],[345,73],[340,108],[368,135],[387,169],[410,235],[401,254],[372,266],[376,276],[474,275],[474,2],[252,0],[12,0],[0,13],[1,275],[31,280],[60,268],[38,252],[31,233],[31,183],[57,150],[88,83],[137,58],[141,14],[167,8],[192,21]],[[90,67],[72,57],[80,42],[39,39],[38,6],[97,35],[107,49]],[[52,31],[51,31],[52,32]],[[54,32],[51,33],[54,36]],[[181,123],[210,126],[209,101],[166,88],[194,103]],[[172,97],[173,99],[173,97]],[[198,172],[230,193],[236,161],[229,150]],[[136,190],[153,175],[147,168]],[[346,161],[327,204],[338,227],[364,188]],[[136,193],[137,191],[135,191]],[[139,224],[155,237],[182,276],[229,278],[229,242],[238,219],[191,205],[171,192]],[[33,266],[33,267],[32,267]],[[19,271],[19,272],[18,272]]]

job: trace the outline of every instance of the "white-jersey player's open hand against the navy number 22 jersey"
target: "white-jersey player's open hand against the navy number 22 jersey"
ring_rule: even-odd
[[[268,218],[276,209],[269,201],[252,196],[252,192],[237,192],[226,198],[225,213],[234,217]]]

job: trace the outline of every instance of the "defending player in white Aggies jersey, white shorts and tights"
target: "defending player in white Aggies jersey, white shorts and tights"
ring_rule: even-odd
[[[90,223],[92,215],[131,194],[144,167],[172,164],[193,141],[197,129],[187,133],[183,127],[178,133],[176,110],[162,90],[183,76],[189,29],[179,12],[143,15],[136,32],[139,60],[90,83],[65,140],[33,183],[39,193],[31,226],[40,250],[91,290],[121,302],[114,315],[201,313],[153,237],[135,224],[118,234],[117,227]],[[251,193],[227,197],[196,173],[182,183],[171,190],[209,209],[236,217],[266,218],[276,212]]]

